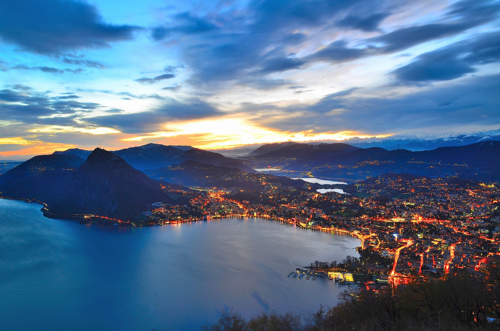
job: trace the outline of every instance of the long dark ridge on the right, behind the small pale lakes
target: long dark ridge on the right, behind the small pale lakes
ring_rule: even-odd
[[[307,146],[297,144],[284,147],[253,156],[249,161],[261,166],[280,165],[302,171],[314,168],[314,175],[333,178],[361,179],[386,172],[407,172],[425,176],[500,179],[500,141],[423,151],[387,150],[380,147],[352,147],[355,149],[349,151],[345,147],[348,145],[339,143],[316,145],[313,147],[317,149],[311,151]]]

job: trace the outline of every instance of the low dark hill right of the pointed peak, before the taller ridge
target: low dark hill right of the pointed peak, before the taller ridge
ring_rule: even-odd
[[[165,166],[154,170],[145,170],[151,177],[186,186],[202,187],[237,187],[244,189],[262,189],[262,183],[275,183],[286,186],[302,187],[303,180],[273,176],[263,173],[244,172],[238,168],[228,168],[213,164],[187,160],[180,164]]]

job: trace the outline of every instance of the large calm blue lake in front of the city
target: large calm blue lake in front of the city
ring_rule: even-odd
[[[81,225],[0,199],[5,330],[192,330],[234,308],[309,313],[333,281],[287,278],[313,260],[356,255],[353,237],[261,218],[144,228]]]

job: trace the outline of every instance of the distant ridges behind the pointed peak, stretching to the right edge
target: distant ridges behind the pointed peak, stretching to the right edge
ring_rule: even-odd
[[[482,139],[488,136],[487,133],[496,132],[497,130],[487,131],[482,132],[484,134],[470,136]],[[461,176],[494,181],[500,180],[499,144],[500,141],[487,140],[463,146],[412,151],[403,148],[362,148],[339,142],[286,141],[259,145],[248,155],[236,158],[199,148],[181,150],[174,146],[153,143],[113,152],[139,170],[154,170],[192,160],[203,164],[238,168],[246,172],[266,166],[279,166],[283,169],[308,173],[313,170],[313,175],[329,178],[363,179],[385,172],[408,172],[426,176]],[[84,156],[86,151],[68,149],[55,153],[75,152]]]

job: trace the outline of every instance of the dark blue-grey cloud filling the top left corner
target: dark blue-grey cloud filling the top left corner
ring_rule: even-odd
[[[102,21],[94,6],[73,0],[1,1],[0,36],[24,50],[58,55],[128,40],[136,29]]]

